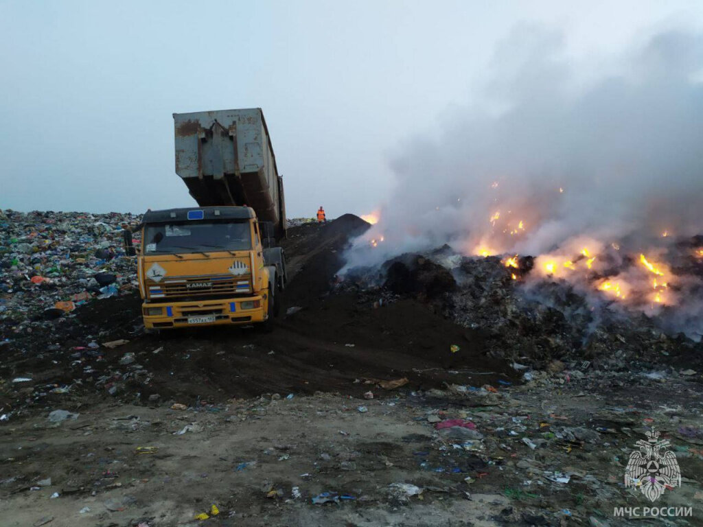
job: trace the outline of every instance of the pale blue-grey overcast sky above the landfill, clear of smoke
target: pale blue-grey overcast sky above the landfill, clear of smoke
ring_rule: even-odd
[[[597,65],[702,20],[699,0],[0,0],[0,208],[188,206],[172,113],[260,107],[288,216],[363,214],[392,153],[471,102],[516,25]]]

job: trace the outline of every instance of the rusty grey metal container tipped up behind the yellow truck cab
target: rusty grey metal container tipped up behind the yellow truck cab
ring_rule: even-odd
[[[201,207],[252,207],[285,237],[283,179],[261,108],[174,113],[176,174]]]

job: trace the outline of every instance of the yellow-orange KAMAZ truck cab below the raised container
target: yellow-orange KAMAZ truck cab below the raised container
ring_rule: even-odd
[[[271,327],[285,255],[250,207],[192,207],[143,216],[139,291],[147,330]]]

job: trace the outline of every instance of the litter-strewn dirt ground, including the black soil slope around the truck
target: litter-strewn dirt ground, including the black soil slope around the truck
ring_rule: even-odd
[[[429,304],[337,289],[364,228],[290,230],[284,311],[299,310],[272,334],[144,335],[125,295],[6,346],[0,525],[619,525],[614,507],[652,505],[624,486],[652,425],[683,476],[656,505],[692,516],[638,525],[703,525],[699,374],[555,362],[521,384]],[[51,422],[59,409],[79,415]]]

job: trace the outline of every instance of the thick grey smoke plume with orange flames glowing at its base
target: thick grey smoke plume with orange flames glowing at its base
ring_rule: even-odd
[[[467,256],[538,256],[526,281],[676,304],[662,262],[703,232],[703,39],[657,34],[589,71],[560,35],[515,30],[484,96],[396,153],[394,191],[347,267],[448,243]]]

